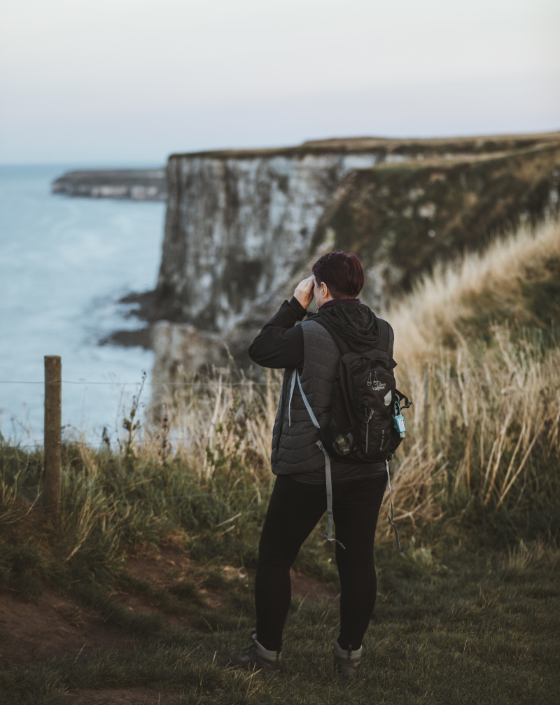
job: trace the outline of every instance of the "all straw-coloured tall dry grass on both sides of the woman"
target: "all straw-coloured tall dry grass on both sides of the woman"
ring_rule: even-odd
[[[486,252],[438,267],[386,312],[395,331],[397,384],[414,400],[395,464],[401,520],[413,525],[437,520],[454,496],[477,496],[486,507],[519,508],[537,490],[552,488],[560,450],[560,350],[543,348],[538,331],[513,340],[506,325],[494,326],[492,343],[482,343],[463,338],[460,326],[480,297],[515,300],[518,278],[538,273],[554,257],[560,259],[557,221],[535,233],[521,227]],[[454,348],[442,345],[449,333]],[[173,453],[202,486],[224,462],[231,472],[239,464],[247,467],[255,486],[269,486],[280,381],[279,374],[269,373],[264,386],[243,376],[232,384],[231,371],[221,370],[205,384],[170,388]],[[161,455],[159,431],[148,431],[143,447],[154,458]]]

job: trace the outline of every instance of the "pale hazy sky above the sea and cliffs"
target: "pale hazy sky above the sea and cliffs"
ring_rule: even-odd
[[[3,0],[0,162],[560,128],[557,0]]]

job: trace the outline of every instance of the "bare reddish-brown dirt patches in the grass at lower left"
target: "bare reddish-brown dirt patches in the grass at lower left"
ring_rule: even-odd
[[[128,569],[131,575],[157,589],[163,588],[169,580],[193,574],[185,553],[172,549],[129,560]],[[249,587],[244,568],[229,567],[224,572],[229,577],[238,577]],[[295,597],[312,602],[338,599],[331,585],[313,577],[292,571],[291,580]],[[220,606],[224,599],[220,591],[202,589],[200,594],[209,606]],[[137,613],[159,612],[145,596],[119,593],[115,599]],[[168,625],[193,628],[188,615],[160,614]],[[25,599],[13,591],[0,591],[0,670],[62,656],[78,658],[97,649],[126,651],[133,646],[133,637],[104,623],[95,611],[80,605],[71,596],[45,589],[37,598]],[[68,704],[167,705],[178,695],[145,687],[91,689],[68,693]]]

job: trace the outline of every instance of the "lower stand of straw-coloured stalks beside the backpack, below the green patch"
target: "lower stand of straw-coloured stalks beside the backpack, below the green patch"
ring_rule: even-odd
[[[424,379],[410,380],[416,404],[394,486],[413,520],[437,517],[438,494],[463,490],[485,506],[519,507],[537,485],[550,489],[560,449],[560,350],[543,355],[532,341],[516,345],[508,331],[494,333],[498,350],[482,359],[462,345],[434,362],[429,409]]]

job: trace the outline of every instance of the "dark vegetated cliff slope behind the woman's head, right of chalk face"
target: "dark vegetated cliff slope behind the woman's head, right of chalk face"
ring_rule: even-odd
[[[313,244],[328,233],[336,249],[356,252],[381,278],[386,300],[437,262],[485,247],[520,220],[535,225],[557,213],[559,187],[560,142],[382,163],[348,177]]]

